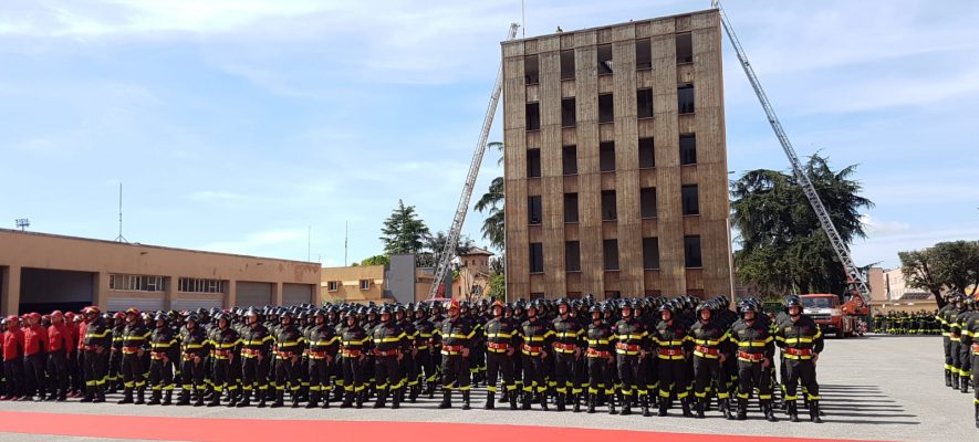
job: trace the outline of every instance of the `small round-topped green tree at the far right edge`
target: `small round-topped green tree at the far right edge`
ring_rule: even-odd
[[[939,242],[898,252],[897,257],[908,286],[930,292],[939,308],[947,303],[942,290],[967,295],[979,291],[979,241]]]

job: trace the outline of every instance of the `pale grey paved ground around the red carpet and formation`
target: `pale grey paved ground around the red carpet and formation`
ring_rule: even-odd
[[[778,423],[761,419],[752,407],[748,421],[727,421],[717,411],[704,420],[679,417],[670,410],[666,418],[642,415],[608,415],[605,413],[559,413],[555,411],[485,411],[483,393],[473,392],[473,410],[437,410],[438,399],[406,403],[400,410],[347,409],[228,409],[191,407],[85,404],[76,400],[66,403],[0,402],[0,431],[10,431],[4,424],[17,420],[12,411],[69,414],[100,414],[129,417],[250,419],[250,420],[335,420],[335,421],[399,421],[476,423],[497,425],[573,427],[582,429],[634,430],[666,433],[714,435],[768,435],[782,438],[823,438],[905,441],[976,441],[979,429],[972,421],[972,394],[962,394],[945,387],[942,378],[940,337],[869,336],[845,340],[830,339],[819,365],[825,423],[817,425],[804,420],[790,423],[783,414]],[[458,394],[458,393],[457,393]],[[552,407],[553,410],[553,407]],[[801,418],[808,418],[800,410]],[[67,419],[67,417],[65,417]],[[45,435],[59,425],[50,419],[25,434],[0,432],[2,441],[88,440],[85,438]],[[177,420],[173,422],[178,424]],[[487,427],[493,431],[499,427]],[[91,434],[75,432],[74,434]],[[138,434],[138,432],[133,433]],[[192,434],[187,435],[194,439]],[[670,440],[674,438],[666,438]],[[96,439],[92,439],[96,440]],[[98,438],[97,440],[105,440]]]

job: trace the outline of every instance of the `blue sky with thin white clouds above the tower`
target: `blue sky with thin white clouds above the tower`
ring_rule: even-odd
[[[528,0],[521,35],[709,1]],[[0,227],[344,264],[447,230],[519,0],[0,0]],[[800,156],[858,165],[860,265],[979,239],[979,2],[738,0]],[[728,166],[788,159],[727,38]],[[502,139],[498,114],[490,140]],[[502,175],[488,152],[473,202]],[[471,207],[471,204],[470,204]],[[482,215],[464,233],[486,244]]]

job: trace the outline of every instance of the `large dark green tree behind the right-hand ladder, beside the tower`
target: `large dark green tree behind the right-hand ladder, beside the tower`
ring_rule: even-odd
[[[847,244],[865,238],[861,210],[873,202],[852,179],[856,166],[833,171],[813,155],[803,167],[840,236]],[[767,295],[846,291],[846,273],[822,230],[802,187],[791,172],[758,169],[731,182],[731,221],[741,246],[735,264],[741,281]]]

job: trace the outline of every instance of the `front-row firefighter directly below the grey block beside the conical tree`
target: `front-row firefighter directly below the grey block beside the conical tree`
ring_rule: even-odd
[[[374,408],[384,408],[388,393],[392,409],[402,407],[400,389],[405,383],[404,373],[398,362],[405,351],[410,351],[410,340],[405,330],[394,323],[394,312],[388,306],[381,308],[381,324],[371,334],[374,339],[374,379],[377,389],[377,401]]]

